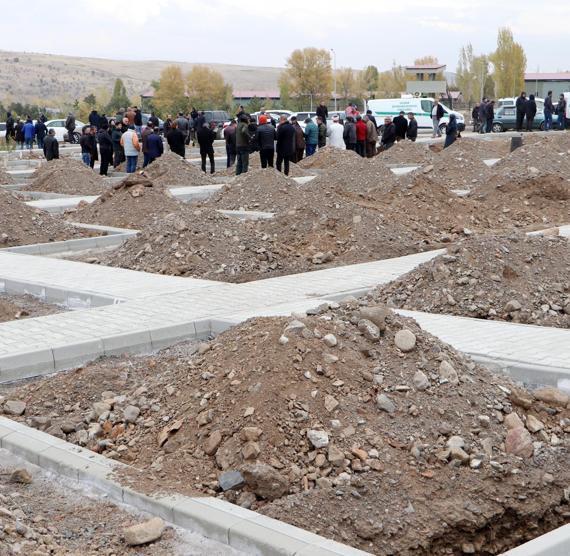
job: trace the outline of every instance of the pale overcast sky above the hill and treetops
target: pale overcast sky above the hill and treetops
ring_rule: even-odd
[[[6,1],[6,0],[4,0]],[[461,46],[492,51],[497,28],[527,71],[570,70],[568,0],[26,0],[4,10],[0,48],[115,59],[283,66],[295,48],[334,48],[337,66],[381,70]]]

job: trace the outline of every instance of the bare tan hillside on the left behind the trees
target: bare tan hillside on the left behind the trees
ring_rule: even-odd
[[[146,91],[168,65],[189,71],[199,64],[166,60],[107,60],[0,50],[0,101],[73,100],[111,90],[123,79],[130,96]],[[207,64],[219,71],[234,90],[275,90],[281,68]]]

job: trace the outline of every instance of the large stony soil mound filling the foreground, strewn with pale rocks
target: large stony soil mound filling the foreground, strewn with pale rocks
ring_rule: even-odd
[[[138,469],[136,489],[217,495],[374,554],[498,554],[568,519],[567,394],[366,298],[317,313],[4,393],[26,402],[17,419]]]

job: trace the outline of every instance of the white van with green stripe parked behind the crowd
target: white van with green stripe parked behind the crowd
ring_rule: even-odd
[[[433,129],[431,120],[431,110],[433,108],[433,98],[419,98],[419,97],[404,97],[404,98],[381,98],[369,100],[367,103],[368,110],[372,110],[372,114],[376,117],[379,127],[385,117],[390,116],[394,118],[400,112],[404,112],[406,117],[408,112],[413,112],[416,120],[418,121],[419,129]],[[465,129],[465,118],[459,112],[450,110],[445,104],[441,103],[441,107],[445,115],[441,119],[439,129],[445,133],[445,128],[449,122],[450,114],[455,114],[457,118],[457,126],[460,131]]]

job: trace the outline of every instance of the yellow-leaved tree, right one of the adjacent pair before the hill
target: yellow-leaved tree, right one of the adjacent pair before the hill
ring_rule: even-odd
[[[186,76],[189,106],[197,109],[228,109],[232,105],[232,87],[223,75],[206,66],[194,66]]]

